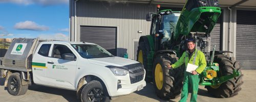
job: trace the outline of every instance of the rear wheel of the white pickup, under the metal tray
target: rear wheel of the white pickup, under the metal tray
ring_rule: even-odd
[[[14,96],[23,95],[27,92],[28,85],[22,85],[19,73],[15,72],[8,78],[7,91]]]

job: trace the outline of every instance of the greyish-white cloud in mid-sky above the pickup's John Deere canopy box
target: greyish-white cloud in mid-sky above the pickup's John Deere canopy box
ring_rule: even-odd
[[[33,21],[24,21],[24,22],[18,22],[14,25],[14,28],[17,30],[32,30],[32,31],[47,31],[49,30],[48,27],[45,25],[38,25],[37,23]]]

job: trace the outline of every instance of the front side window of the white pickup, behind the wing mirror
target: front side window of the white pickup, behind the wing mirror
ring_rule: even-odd
[[[66,45],[54,44],[52,57],[62,59],[63,54],[73,54],[73,52]],[[74,54],[73,54],[74,55]]]

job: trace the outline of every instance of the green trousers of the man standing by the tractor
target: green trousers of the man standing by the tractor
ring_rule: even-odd
[[[180,102],[185,102],[187,100],[189,89],[189,92],[191,92],[190,101],[197,101],[198,84],[198,75],[193,75],[190,72],[184,72],[184,82]]]

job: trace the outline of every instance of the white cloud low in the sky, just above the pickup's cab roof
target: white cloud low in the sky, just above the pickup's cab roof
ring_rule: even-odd
[[[61,41],[69,41],[69,37],[63,33],[55,33],[51,35],[51,38],[49,38],[49,34],[41,34],[38,37],[40,39],[47,39],[47,40],[61,40]]]

